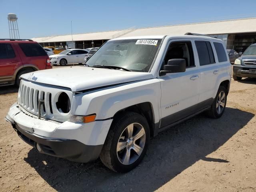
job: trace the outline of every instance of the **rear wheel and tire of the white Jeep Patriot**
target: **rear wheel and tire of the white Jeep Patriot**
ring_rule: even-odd
[[[223,86],[219,87],[217,95],[212,102],[210,110],[208,110],[208,116],[211,118],[217,119],[222,116],[226,108],[227,103],[227,91]]]

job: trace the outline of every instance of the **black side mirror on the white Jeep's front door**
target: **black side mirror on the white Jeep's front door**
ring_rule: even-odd
[[[186,60],[184,59],[170,59],[167,65],[164,65],[164,70],[160,71],[161,75],[166,73],[178,73],[186,71]]]

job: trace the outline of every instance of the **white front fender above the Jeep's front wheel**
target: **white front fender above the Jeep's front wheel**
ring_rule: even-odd
[[[128,83],[78,96],[76,98],[76,115],[96,113],[96,120],[112,118],[116,112],[129,106],[150,102],[154,121],[160,120],[160,82],[150,79]]]

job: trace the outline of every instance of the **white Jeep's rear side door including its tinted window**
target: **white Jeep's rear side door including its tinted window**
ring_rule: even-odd
[[[199,59],[199,73],[201,76],[199,102],[209,100],[214,96],[218,78],[219,66],[214,56],[213,43],[210,40],[194,40]]]

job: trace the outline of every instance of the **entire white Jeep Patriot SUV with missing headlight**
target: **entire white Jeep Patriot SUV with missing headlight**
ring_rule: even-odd
[[[104,56],[103,65],[108,50],[120,58]],[[222,116],[231,64],[223,42],[210,36],[140,36],[109,40],[85,66],[21,78],[6,120],[25,142],[76,162],[100,157],[127,172],[142,161],[150,136],[203,111]]]

